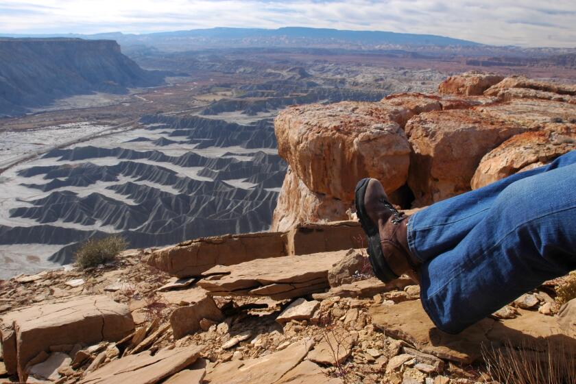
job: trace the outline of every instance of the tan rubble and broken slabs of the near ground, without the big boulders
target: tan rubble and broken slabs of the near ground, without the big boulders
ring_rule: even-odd
[[[208,239],[221,256],[227,240]],[[271,254],[197,278],[153,266],[162,252],[5,281],[1,382],[488,383],[482,345],[566,337],[576,321],[576,300],[557,315],[560,280],[454,336],[428,319],[418,285],[370,276],[362,250]]]

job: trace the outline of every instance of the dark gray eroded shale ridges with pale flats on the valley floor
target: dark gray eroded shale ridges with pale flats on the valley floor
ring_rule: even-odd
[[[143,248],[269,228],[286,173],[272,121],[150,115],[141,123],[121,143],[53,149],[16,170],[20,187],[40,197],[16,199],[10,219],[26,225],[0,225],[0,245],[62,245],[49,258],[62,264],[78,242],[107,233]]]

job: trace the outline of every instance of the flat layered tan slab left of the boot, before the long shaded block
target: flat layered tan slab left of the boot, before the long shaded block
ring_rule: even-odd
[[[348,251],[257,259],[204,272],[198,285],[217,296],[306,296],[328,287],[328,269]]]

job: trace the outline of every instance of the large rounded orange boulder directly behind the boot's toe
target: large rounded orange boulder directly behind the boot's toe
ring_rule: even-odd
[[[315,193],[353,200],[364,177],[387,192],[406,182],[410,147],[400,127],[404,108],[344,101],[287,108],[274,122],[278,153]]]

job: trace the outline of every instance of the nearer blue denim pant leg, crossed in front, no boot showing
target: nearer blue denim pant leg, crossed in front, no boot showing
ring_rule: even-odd
[[[454,248],[422,265],[422,306],[438,328],[459,333],[576,269],[575,154],[507,185]]]

